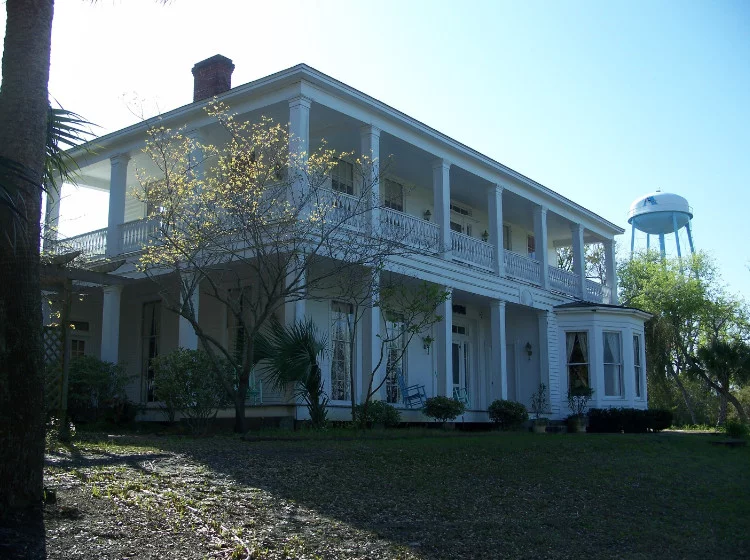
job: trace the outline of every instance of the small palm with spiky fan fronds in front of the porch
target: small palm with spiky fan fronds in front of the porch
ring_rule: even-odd
[[[325,347],[325,339],[309,320],[285,326],[273,318],[255,342],[254,357],[266,379],[279,390],[293,384],[295,397],[305,400],[314,428],[325,426],[328,414],[328,395],[318,361]]]

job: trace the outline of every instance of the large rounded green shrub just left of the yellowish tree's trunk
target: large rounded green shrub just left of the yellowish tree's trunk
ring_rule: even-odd
[[[154,395],[174,421],[181,412],[194,434],[206,430],[208,419],[227,403],[226,391],[203,350],[178,348],[154,359]]]

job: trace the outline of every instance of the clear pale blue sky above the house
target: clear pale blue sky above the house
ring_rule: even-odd
[[[217,53],[233,85],[305,62],[623,227],[640,195],[680,194],[750,299],[746,0],[58,0],[50,93],[111,132],[133,100],[189,103]],[[106,224],[101,199],[65,194],[64,233]]]

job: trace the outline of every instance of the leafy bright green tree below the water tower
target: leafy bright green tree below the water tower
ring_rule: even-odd
[[[674,384],[692,423],[698,423],[688,390],[689,380],[698,379],[704,390],[731,403],[746,421],[745,411],[733,395],[735,383],[746,378],[739,370],[727,378],[720,364],[728,356],[720,357],[711,350],[747,339],[746,304],[726,294],[714,264],[700,253],[670,260],[651,252],[621,263],[619,274],[621,301],[653,315],[646,325],[648,375],[653,378],[649,387],[660,382]],[[734,364],[739,360],[735,358],[724,365]],[[723,416],[719,414],[719,420]]]

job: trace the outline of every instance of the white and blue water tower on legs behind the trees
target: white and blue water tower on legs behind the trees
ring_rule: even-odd
[[[630,255],[635,250],[635,230],[646,234],[646,249],[651,249],[651,236],[659,236],[659,249],[661,256],[666,256],[666,243],[664,236],[674,234],[677,245],[677,256],[682,257],[680,249],[680,230],[685,228],[690,245],[693,249],[693,233],[690,229],[690,220],[693,218],[693,210],[683,197],[672,194],[655,192],[636,199],[630,205],[628,212],[628,223],[631,226]]]

